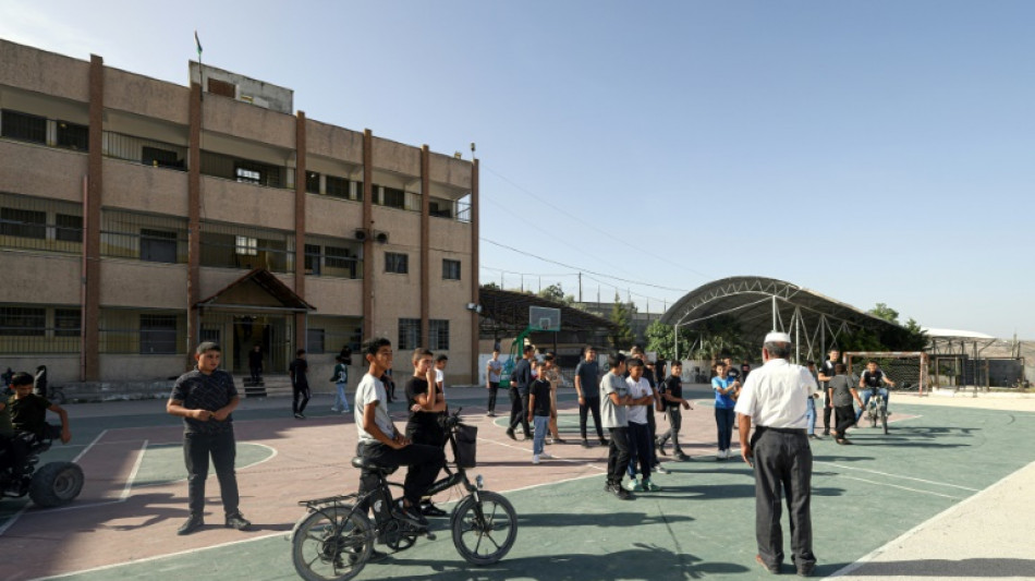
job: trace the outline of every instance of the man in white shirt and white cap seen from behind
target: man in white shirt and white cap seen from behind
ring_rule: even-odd
[[[790,353],[788,334],[766,335],[762,349],[765,364],[747,376],[734,411],[740,420],[741,456],[755,469],[755,560],[770,573],[780,572],[782,487],[791,518],[791,559],[797,574],[808,577],[816,568],[816,556],[812,552],[813,457],[805,435],[805,406],[817,386],[808,370],[788,362]],[[748,440],[752,423],[756,428]]]

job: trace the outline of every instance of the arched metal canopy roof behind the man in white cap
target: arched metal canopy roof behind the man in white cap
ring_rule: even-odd
[[[784,331],[797,346],[799,358],[817,361],[842,335],[861,328],[878,334],[901,329],[850,304],[764,277],[730,277],[698,287],[666,311],[661,323],[692,329],[719,315],[734,317],[751,344],[760,348],[767,332]]]

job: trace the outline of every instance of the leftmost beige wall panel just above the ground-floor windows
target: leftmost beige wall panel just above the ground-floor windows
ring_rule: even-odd
[[[0,250],[0,302],[80,304],[78,256]]]

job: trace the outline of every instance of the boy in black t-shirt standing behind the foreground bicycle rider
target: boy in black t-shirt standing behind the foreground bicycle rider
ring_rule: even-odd
[[[427,444],[437,448],[446,446],[446,429],[439,420],[446,414],[446,394],[436,382],[431,351],[418,347],[413,351],[413,376],[406,382],[406,437],[414,444]],[[426,517],[445,517],[447,512],[431,500],[422,499],[421,513]]]

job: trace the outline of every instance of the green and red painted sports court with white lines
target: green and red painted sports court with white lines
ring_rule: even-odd
[[[706,391],[693,395],[703,398]],[[911,399],[915,401],[911,397],[892,399],[894,415],[889,435],[861,427],[850,433],[854,446],[839,446],[831,438],[813,443],[812,513],[819,559],[817,577],[841,570],[1035,461],[1035,447],[1018,445],[1035,436],[1035,413],[908,403]],[[547,451],[557,459],[538,467],[531,463],[531,441],[520,437],[519,441],[510,440],[503,434],[502,417],[490,422],[483,415],[482,392],[456,389],[453,400],[464,406],[464,414],[470,412],[471,421],[479,426],[480,465],[473,472],[483,473],[486,488],[506,493],[518,510],[519,534],[513,550],[495,566],[470,566],[452,546],[445,521],[433,520],[433,529],[438,524],[436,541],[422,538],[413,548],[370,564],[358,579],[583,581],[770,577],[754,562],[751,469],[739,459],[715,461],[715,423],[706,400],[698,400],[696,409],[684,415],[681,439],[692,460],[666,462],[670,473],[655,479],[663,489],[641,493],[632,501],[621,501],[604,492],[605,450],[586,450],[575,444],[577,415],[573,413],[571,394],[561,397],[560,426],[568,443],[549,446]],[[319,403],[316,408],[326,409],[321,401],[315,403]],[[160,403],[151,406],[160,409]],[[63,534],[47,536],[42,542],[34,533],[34,525],[46,531],[46,523],[57,525],[65,517],[35,509],[20,512],[20,501],[5,499],[0,505],[0,526],[4,529],[0,545],[11,547],[7,550],[7,564],[12,562],[13,555],[14,566],[5,565],[0,578],[296,578],[288,536],[293,520],[303,511],[294,501],[319,496],[325,491],[355,488],[356,473],[345,468],[351,444],[334,443],[339,435],[344,439],[351,433],[354,438],[351,416],[326,413],[303,425],[269,406],[240,411],[236,421],[242,508],[253,521],[265,524],[246,534],[212,528],[211,532],[190,537],[174,534],[186,515],[176,422],[160,413],[73,416],[76,443],[88,444],[108,431],[82,457],[82,462],[88,465],[90,455],[101,453],[106,446],[125,456],[112,474],[131,467],[129,484],[110,479],[110,488],[122,489],[125,497],[120,500],[111,496],[105,506],[94,499],[97,506],[81,509],[73,504],[64,516],[74,515],[78,520]],[[401,425],[401,421],[397,422]],[[661,422],[659,429],[663,428],[666,424]],[[114,438],[115,434],[124,437]],[[151,437],[145,438],[148,435]],[[322,445],[313,444],[317,435]],[[143,449],[142,439],[148,440]],[[301,448],[305,452],[299,451],[300,441],[309,443]],[[59,447],[49,456],[74,458],[84,449],[82,444]],[[87,472],[87,481],[106,477]],[[212,477],[208,491],[209,522],[218,522],[221,516],[217,489]],[[138,496],[158,493],[168,498],[162,503],[134,504]],[[455,499],[454,496],[452,500]],[[267,510],[267,506],[275,505],[277,510]],[[150,512],[142,516],[133,515],[133,510]],[[120,511],[126,513],[120,517]],[[280,520],[258,518],[267,512],[279,515]],[[119,518],[130,519],[126,522],[134,524],[112,531],[111,522],[119,522]],[[784,515],[787,543],[786,521]],[[89,535],[101,533],[113,540],[110,550],[125,554],[124,558],[113,562],[86,556],[75,558],[76,552],[85,550]],[[138,543],[151,548],[127,550]],[[45,548],[53,557],[52,562],[40,566],[29,561],[34,545]],[[790,555],[789,547],[787,553]],[[791,571],[786,566],[784,572]]]

